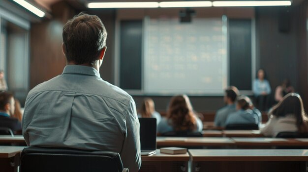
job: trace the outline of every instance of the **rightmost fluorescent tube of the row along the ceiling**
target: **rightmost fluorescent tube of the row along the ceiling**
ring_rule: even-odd
[[[276,1],[214,1],[213,6],[290,6],[290,0]]]

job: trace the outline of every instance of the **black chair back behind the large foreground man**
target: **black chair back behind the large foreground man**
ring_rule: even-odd
[[[119,153],[69,148],[26,147],[20,172],[128,172]]]

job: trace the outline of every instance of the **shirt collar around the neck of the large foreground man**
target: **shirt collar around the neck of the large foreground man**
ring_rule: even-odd
[[[90,66],[66,65],[62,74],[86,74],[100,77],[99,72]]]

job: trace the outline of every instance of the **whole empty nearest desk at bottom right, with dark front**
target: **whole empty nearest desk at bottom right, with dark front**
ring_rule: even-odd
[[[189,149],[191,172],[306,172],[305,149]]]

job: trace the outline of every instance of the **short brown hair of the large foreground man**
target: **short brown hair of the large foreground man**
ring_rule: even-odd
[[[67,21],[62,37],[67,61],[92,65],[106,45],[107,31],[97,16],[82,12]]]

